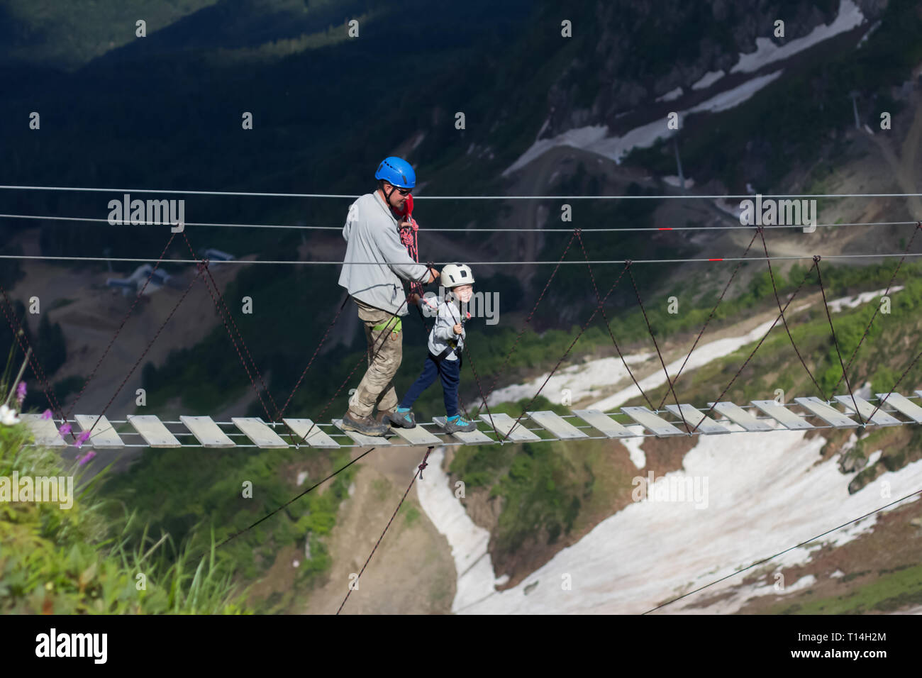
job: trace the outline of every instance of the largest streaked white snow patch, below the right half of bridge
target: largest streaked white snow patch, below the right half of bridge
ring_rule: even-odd
[[[771,553],[805,541],[881,504],[880,493],[848,494],[845,477],[830,459],[814,466],[822,436],[803,432],[701,436],[685,456],[684,473],[709,479],[706,509],[689,502],[639,502],[606,518],[581,541],[561,550],[525,582],[471,605],[466,613],[642,613],[673,595],[703,586]],[[886,473],[896,495],[922,482],[922,461]],[[822,539],[833,546],[873,529],[869,517]],[[811,544],[772,561],[776,568],[803,565]],[[569,575],[572,589],[557,585]],[[671,613],[715,613],[739,605],[764,589],[741,586],[743,577],[715,585],[667,609]],[[550,582],[525,595],[526,582]],[[804,577],[786,589],[812,584]],[[688,608],[727,589],[731,601]],[[766,592],[774,592],[774,589]]]

